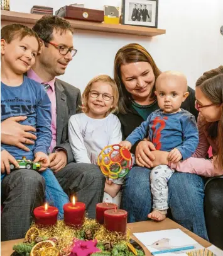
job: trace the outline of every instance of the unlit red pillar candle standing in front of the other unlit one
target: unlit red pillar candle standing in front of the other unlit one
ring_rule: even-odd
[[[125,234],[128,212],[121,209],[112,209],[104,212],[104,225],[109,231]]]

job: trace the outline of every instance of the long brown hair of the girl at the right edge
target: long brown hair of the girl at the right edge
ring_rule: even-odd
[[[207,71],[196,83],[204,95],[216,105],[222,106],[222,114],[217,122],[206,125],[207,132],[212,139],[217,139],[217,163],[223,169],[223,66]]]

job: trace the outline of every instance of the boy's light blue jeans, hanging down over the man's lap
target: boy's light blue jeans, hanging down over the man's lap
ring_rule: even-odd
[[[14,171],[16,172],[16,170]],[[33,170],[27,170],[27,172],[36,172]],[[52,170],[46,169],[43,172],[38,172],[45,179],[46,190],[45,190],[45,200],[50,206],[55,206],[58,208],[58,219],[63,219],[63,204],[69,202],[67,194],[60,187],[57,178],[53,174]],[[6,174],[1,173],[1,182]]]

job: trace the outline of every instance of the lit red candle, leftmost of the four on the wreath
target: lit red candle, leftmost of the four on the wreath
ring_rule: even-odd
[[[36,207],[33,211],[35,216],[35,223],[41,225],[54,225],[57,223],[58,209],[54,206]]]

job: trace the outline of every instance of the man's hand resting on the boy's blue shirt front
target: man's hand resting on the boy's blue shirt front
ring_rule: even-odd
[[[18,123],[25,119],[27,117],[9,117],[1,122],[1,143],[16,146],[24,151],[30,151],[24,144],[33,145],[35,143],[31,139],[35,140],[36,136],[30,132],[36,132],[36,129],[30,125]]]

